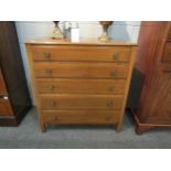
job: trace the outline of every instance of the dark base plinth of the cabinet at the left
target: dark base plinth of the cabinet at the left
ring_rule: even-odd
[[[17,127],[32,106],[25,106],[17,116],[0,116],[0,127]]]

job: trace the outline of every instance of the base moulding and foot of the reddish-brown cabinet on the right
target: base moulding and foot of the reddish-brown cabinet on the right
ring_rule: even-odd
[[[133,121],[136,125],[135,131],[137,135],[142,135],[143,132],[153,128],[171,128],[171,125],[142,124],[139,121],[138,117],[135,115],[135,111],[132,109],[129,108],[129,111],[133,117]]]

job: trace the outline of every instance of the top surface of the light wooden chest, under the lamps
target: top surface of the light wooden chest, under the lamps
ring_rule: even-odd
[[[68,39],[64,40],[54,40],[54,39],[36,39],[25,42],[25,44],[42,44],[42,45],[118,45],[118,46],[137,46],[137,43],[121,41],[121,40],[109,40],[109,41],[99,41],[98,39],[79,39],[78,42],[72,42]]]

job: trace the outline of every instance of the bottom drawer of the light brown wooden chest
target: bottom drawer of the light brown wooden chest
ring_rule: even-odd
[[[119,111],[113,110],[56,110],[41,113],[46,124],[116,124]]]

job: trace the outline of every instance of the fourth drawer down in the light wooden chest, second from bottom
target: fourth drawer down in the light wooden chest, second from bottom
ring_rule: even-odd
[[[122,96],[106,95],[40,95],[40,107],[53,109],[120,109]]]

